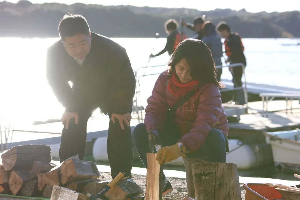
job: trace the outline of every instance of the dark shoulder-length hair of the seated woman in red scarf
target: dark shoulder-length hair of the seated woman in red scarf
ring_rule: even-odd
[[[220,88],[225,88],[224,85],[217,81],[214,60],[210,49],[204,42],[186,39],[179,43],[168,63],[168,74],[172,74],[175,71],[175,65],[183,58],[190,66],[190,74],[194,80],[199,80],[201,85],[210,82]]]

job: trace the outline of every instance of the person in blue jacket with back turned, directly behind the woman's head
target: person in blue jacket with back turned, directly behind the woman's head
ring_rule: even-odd
[[[221,38],[217,34],[216,27],[212,22],[206,21],[203,24],[203,37],[202,41],[211,50],[212,58],[214,59],[215,65],[222,65],[221,58],[223,56],[223,44]],[[217,81],[220,81],[222,68],[216,69]]]

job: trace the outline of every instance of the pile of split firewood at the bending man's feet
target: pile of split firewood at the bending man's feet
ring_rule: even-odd
[[[0,195],[45,196],[50,198],[53,187],[61,186],[82,195],[97,195],[109,181],[101,181],[95,162],[79,160],[73,156],[59,165],[51,163],[47,145],[21,145],[1,155]],[[63,190],[60,189],[60,190]],[[113,189],[113,190],[112,190]],[[132,179],[122,180],[107,194],[108,199],[125,199],[143,193]],[[54,191],[53,191],[54,193]],[[119,198],[119,196],[122,196]],[[51,199],[56,199],[56,196]]]

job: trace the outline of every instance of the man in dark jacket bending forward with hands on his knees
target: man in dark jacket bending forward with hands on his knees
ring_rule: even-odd
[[[113,40],[90,32],[81,15],[65,15],[58,29],[61,39],[47,50],[46,77],[65,108],[60,161],[76,154],[83,159],[88,118],[100,108],[110,118],[107,154],[111,175],[114,178],[124,172],[125,177],[131,176],[130,121],[136,81],[126,50]]]

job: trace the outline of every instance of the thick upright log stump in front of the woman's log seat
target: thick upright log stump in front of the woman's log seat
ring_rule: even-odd
[[[192,165],[196,200],[241,200],[236,164],[196,163]]]

